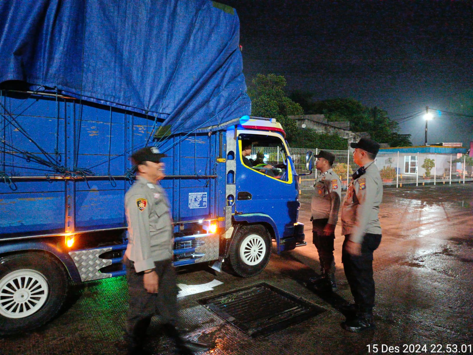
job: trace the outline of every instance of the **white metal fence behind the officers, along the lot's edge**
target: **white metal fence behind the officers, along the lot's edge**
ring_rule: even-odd
[[[296,171],[307,173],[307,149],[289,149]],[[312,150],[315,154],[319,149]],[[351,174],[359,167],[353,161],[353,151],[331,151],[335,155],[332,169],[342,181],[342,189],[346,189],[351,180]],[[452,161],[459,160],[454,163]],[[375,164],[379,169],[384,186],[401,187],[415,184],[415,186],[429,184],[452,184],[473,181],[473,167],[466,166],[466,156],[462,154],[439,153],[404,153],[379,152]],[[314,168],[312,174],[300,177],[300,189],[311,190],[319,172]]]

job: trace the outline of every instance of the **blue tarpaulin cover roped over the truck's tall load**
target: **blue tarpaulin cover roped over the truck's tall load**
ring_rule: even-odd
[[[0,18],[0,83],[22,80],[156,116],[170,133],[223,128],[250,114],[239,20],[230,7],[9,0],[0,2]]]

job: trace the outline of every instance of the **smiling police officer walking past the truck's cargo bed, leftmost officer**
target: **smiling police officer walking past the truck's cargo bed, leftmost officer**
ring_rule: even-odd
[[[130,295],[125,324],[128,354],[146,354],[143,344],[151,317],[159,314],[163,330],[176,343],[179,354],[208,347],[185,341],[176,330],[177,286],[172,264],[173,222],[166,193],[158,184],[165,177],[165,154],[155,147],[136,151],[131,160],[136,182],[125,195],[129,241],[125,251]]]

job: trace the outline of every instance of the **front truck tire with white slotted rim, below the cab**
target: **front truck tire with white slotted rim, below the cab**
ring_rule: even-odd
[[[242,226],[233,237],[228,260],[239,276],[258,275],[268,265],[271,256],[271,237],[260,224]]]

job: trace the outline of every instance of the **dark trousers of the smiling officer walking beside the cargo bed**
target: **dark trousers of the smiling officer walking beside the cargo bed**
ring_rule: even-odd
[[[143,284],[143,273],[136,273],[133,262],[126,262],[126,281],[130,301],[125,322],[125,340],[141,346],[151,317],[158,314],[161,324],[177,326],[177,286],[175,268],[171,260],[156,261],[158,293],[148,293]]]

